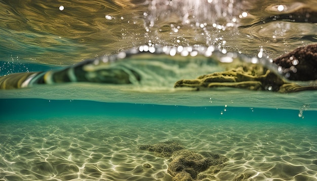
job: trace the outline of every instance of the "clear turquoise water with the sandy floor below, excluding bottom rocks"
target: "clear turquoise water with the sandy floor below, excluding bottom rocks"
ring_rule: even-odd
[[[172,180],[138,145],[178,140],[229,161],[207,180],[316,180],[316,111],[1,99],[0,179]],[[145,168],[150,164],[151,168]]]

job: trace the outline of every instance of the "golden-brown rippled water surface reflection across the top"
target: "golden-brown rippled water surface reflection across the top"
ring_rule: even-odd
[[[270,57],[315,42],[314,1],[3,1],[2,61],[70,65],[141,44]],[[60,6],[64,9],[61,11]]]

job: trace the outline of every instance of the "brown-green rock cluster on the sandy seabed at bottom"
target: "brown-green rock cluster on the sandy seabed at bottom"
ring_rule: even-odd
[[[172,161],[168,167],[168,173],[173,180],[200,180],[207,177],[201,174],[210,167],[213,172],[219,172],[225,166],[228,158],[212,152],[194,153],[186,150],[177,141],[167,141],[154,145],[139,145],[140,150],[153,152],[159,157],[171,157]]]

